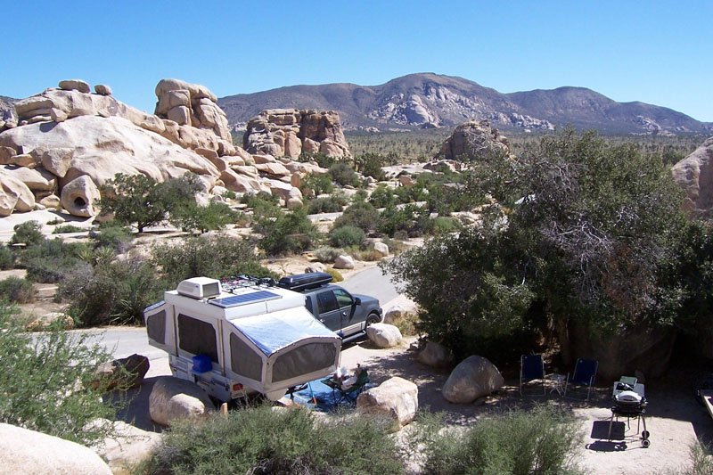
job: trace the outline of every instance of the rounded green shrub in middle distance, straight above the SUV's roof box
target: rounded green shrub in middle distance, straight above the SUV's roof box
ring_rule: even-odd
[[[307,219],[304,208],[281,212],[275,218],[261,217],[252,229],[263,235],[258,248],[268,256],[310,250],[312,243],[319,237],[315,225]]]

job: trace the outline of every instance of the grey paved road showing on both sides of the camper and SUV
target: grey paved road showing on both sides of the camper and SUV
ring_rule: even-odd
[[[352,293],[361,293],[376,297],[383,306],[397,297],[397,291],[388,276],[381,274],[381,269],[373,267],[352,275],[348,281],[340,283]],[[150,347],[144,328],[112,327],[90,339],[102,344],[116,358],[138,353],[150,360],[168,358],[165,351]]]

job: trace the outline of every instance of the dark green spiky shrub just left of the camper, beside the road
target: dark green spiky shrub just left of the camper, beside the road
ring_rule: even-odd
[[[70,302],[80,325],[143,323],[143,309],[168,290],[147,261],[83,263],[61,280],[58,296]]]

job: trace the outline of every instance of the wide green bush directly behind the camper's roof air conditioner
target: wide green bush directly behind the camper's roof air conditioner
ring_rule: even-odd
[[[251,242],[227,236],[191,237],[176,244],[156,246],[152,250],[152,262],[167,289],[175,289],[184,279],[200,276],[216,279],[240,274],[276,277],[260,266],[254,249]]]

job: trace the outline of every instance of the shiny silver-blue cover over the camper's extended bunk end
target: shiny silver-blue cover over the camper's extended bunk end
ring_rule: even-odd
[[[305,307],[289,308],[269,315],[255,315],[231,320],[234,327],[262,351],[266,356],[275,354],[281,348],[299,340],[313,337],[337,337]]]

